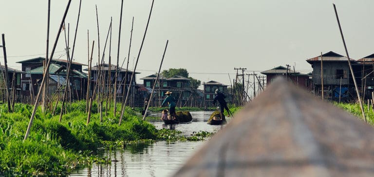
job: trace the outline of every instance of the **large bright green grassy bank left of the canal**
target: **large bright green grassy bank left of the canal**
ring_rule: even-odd
[[[110,163],[99,151],[110,144],[106,142],[157,138],[155,127],[137,117],[130,108],[126,108],[121,126],[118,126],[119,114],[113,117],[112,111],[103,122],[97,113],[92,114],[90,124],[86,125],[85,104],[79,101],[69,105],[61,123],[59,115],[42,113],[38,108],[25,141],[33,106],[16,104],[14,113],[8,113],[6,105],[1,105],[0,176],[66,175],[93,162]]]

